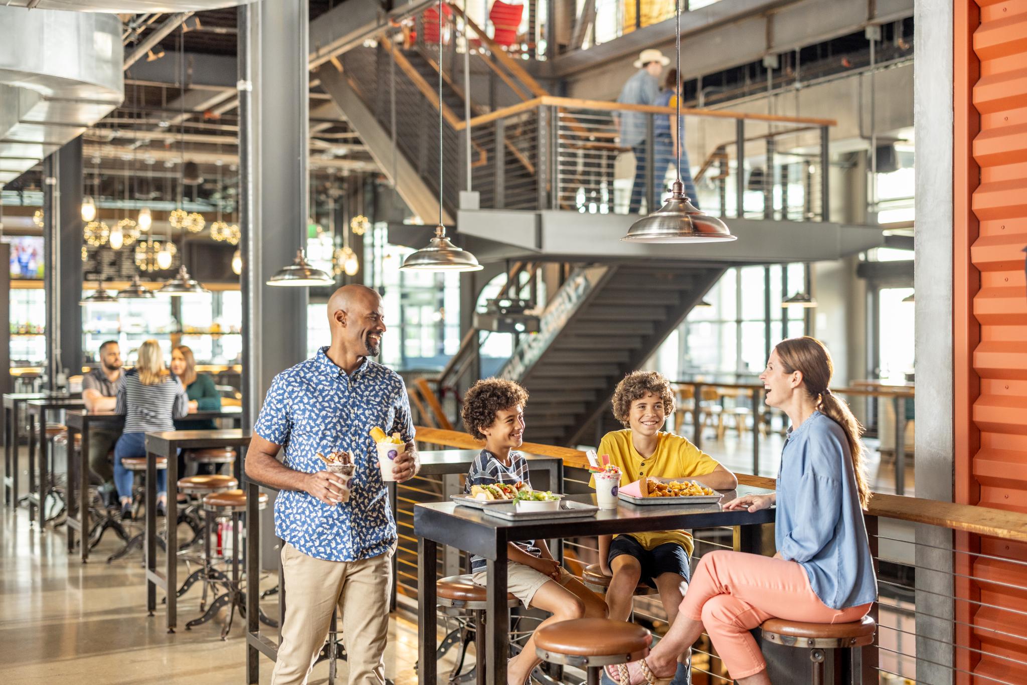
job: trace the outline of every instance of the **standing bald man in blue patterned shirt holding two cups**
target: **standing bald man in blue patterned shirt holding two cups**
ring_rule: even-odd
[[[338,607],[350,685],[384,685],[396,530],[368,431],[403,436],[406,449],[392,465],[403,483],[419,467],[414,425],[403,379],[369,358],[385,333],[381,296],[340,288],[328,318],[332,344],[274,377],[246,452],[246,475],[280,490],[274,530],[284,540],[289,602],[271,682],[307,682]],[[347,502],[340,502],[339,477],[316,456],[334,451],[349,452],[356,464]]]

